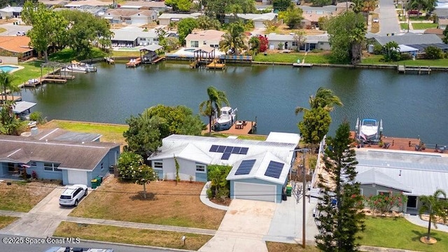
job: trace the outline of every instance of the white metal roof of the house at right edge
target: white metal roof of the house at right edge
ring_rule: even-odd
[[[378,179],[382,186],[395,188],[400,183],[412,190],[409,195],[417,196],[432,195],[437,189],[448,191],[448,155],[357,149],[356,160],[359,175],[373,169],[387,176]]]

